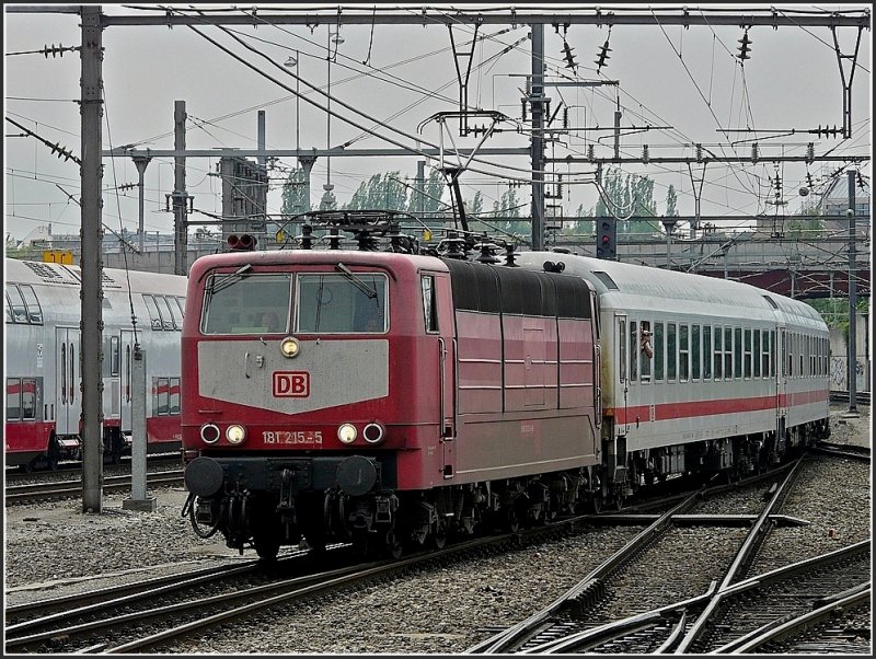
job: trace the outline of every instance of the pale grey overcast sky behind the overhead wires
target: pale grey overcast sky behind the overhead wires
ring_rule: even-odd
[[[189,5],[171,7],[185,9]],[[295,9],[300,11],[300,7]],[[337,5],[332,7],[336,11]],[[392,7],[399,8],[397,11],[416,13],[419,5]],[[472,9],[476,5],[462,3],[456,7]],[[507,5],[502,7],[507,9]],[[557,9],[563,7],[557,5]],[[645,4],[624,7],[649,11]],[[655,10],[666,9],[654,7]],[[768,5],[724,7],[744,13],[752,7]],[[776,9],[861,11],[867,7],[798,3],[776,5]],[[247,5],[246,11],[251,8]],[[103,9],[108,15],[157,13],[114,4],[103,4]],[[526,5],[517,9],[523,11]],[[603,3],[602,9],[606,11],[609,4]],[[232,10],[229,8],[229,11]],[[336,57],[331,62],[326,57],[330,28],[336,32],[337,25],[330,27],[323,22],[313,30],[277,26],[269,24],[269,18],[258,28],[231,28],[250,46],[280,65],[298,51],[299,66],[291,70],[297,70],[306,81],[299,86],[302,93],[307,92],[306,97],[298,102],[289,91],[260,76],[188,27],[106,28],[103,34],[103,148],[136,143],[143,149],[173,149],[174,102],[181,100],[185,101],[188,114],[186,146],[189,149],[255,148],[260,109],[266,112],[268,149],[292,149],[297,140],[302,148],[325,149],[326,115],[308,100],[312,99],[320,105],[325,101],[316,92],[309,91],[306,83],[325,91],[330,67],[332,107],[343,117],[331,120],[332,147],[394,148],[393,143],[368,135],[344,118],[368,128],[374,127],[377,132],[407,146],[414,146],[417,137],[437,143],[439,134],[435,123],[425,124],[422,134],[417,132],[417,127],[435,113],[458,109],[459,90],[448,28],[434,24],[343,25],[341,35],[344,42],[336,46]],[[295,78],[246,50],[219,27],[199,31],[260,70],[296,88]],[[80,154],[80,114],[74,102],[80,96],[79,55],[11,55],[51,45],[79,45],[78,15],[7,11],[4,33],[5,116],[49,142]],[[520,120],[520,89],[523,88],[523,76],[531,72],[528,33],[529,26],[525,24],[482,26],[477,36],[488,38],[480,39],[474,49],[469,79],[470,106],[496,109]],[[749,30],[750,59],[744,67],[736,58],[738,39],[742,34],[740,27],[691,26],[685,30],[671,25],[661,27],[657,21],[654,25],[616,25],[611,30],[606,25],[570,25],[565,35],[562,26],[560,34],[552,26],[545,26],[549,80],[560,80],[562,74],[567,80],[619,82],[619,86],[549,88],[552,111],[562,99],[569,107],[569,125],[589,130],[557,136],[557,141],[549,144],[546,154],[585,157],[588,146],[593,144],[597,157],[612,155],[611,127],[618,100],[622,112],[621,151],[625,157],[641,157],[645,144],[652,157],[690,157],[694,154],[692,144],[696,142],[716,155],[750,155],[754,138],[763,154],[804,155],[809,141],[814,142],[816,154],[872,153],[871,30],[862,33],[857,68],[852,78],[853,132],[849,140],[806,134],[819,126],[837,125],[841,128],[843,123],[842,78],[831,31],[828,27],[752,27]],[[839,28],[837,34],[843,54],[852,55],[857,30]],[[465,25],[454,27],[457,50],[461,51],[461,44],[469,43],[472,36],[472,28]],[[564,36],[578,65],[576,71],[565,66],[562,54]],[[607,38],[610,58],[597,72],[593,60]],[[335,46],[332,47],[334,53]],[[846,59],[846,83],[850,74],[851,60]],[[342,103],[361,114],[343,107]],[[561,125],[561,117],[562,112],[554,126]],[[383,126],[377,126],[376,120]],[[653,128],[647,131],[632,128],[644,126]],[[512,128],[514,125],[505,124],[503,127]],[[521,132],[503,132],[489,138],[484,146],[528,148],[528,124],[522,123],[521,127]],[[4,128],[4,231],[21,239],[37,226],[51,222],[56,234],[78,233],[79,207],[68,197],[69,194],[78,199],[80,195],[78,165],[62,161],[33,137],[19,137],[22,131],[9,122]],[[740,129],[757,129],[759,132]],[[789,135],[792,129],[797,134]],[[480,140],[459,137],[456,130],[452,139],[460,148],[473,147]],[[445,138],[445,144],[450,146],[448,138]],[[373,173],[399,170],[402,177],[413,180],[418,160],[423,158],[415,154],[381,159],[333,158],[331,182],[338,205],[348,201],[359,184]],[[469,171],[461,181],[463,197],[471,199],[476,190],[481,190],[484,209],[491,210],[493,203],[508,189],[509,180],[530,178],[530,161],[526,157],[485,160],[489,162],[472,163],[472,167],[481,172]],[[221,212],[221,185],[216,176],[210,175],[216,171],[217,162],[218,159],[188,159],[186,184],[198,210]],[[106,159],[104,164],[103,221],[116,231],[119,227],[136,230],[136,188],[122,193],[114,188],[136,183],[137,170],[130,159]],[[272,172],[276,188],[268,198],[270,213],[279,213],[281,180],[296,165],[292,159],[283,159],[277,164],[278,169]],[[796,212],[804,200],[798,190],[808,185],[807,173],[818,189],[840,166],[842,163],[784,164],[777,169],[772,163],[710,165],[705,170],[701,213],[728,218],[764,212],[773,215],[777,207],[768,200],[775,197],[771,178],[776,175],[782,178],[782,200],[787,201],[786,206],[779,207],[779,211]],[[575,215],[579,206],[585,209],[595,206],[598,197],[592,183],[592,166],[575,163],[553,169],[570,182],[564,185],[563,199],[557,201],[565,215]],[[860,169],[869,183],[869,162]],[[655,182],[654,198],[659,213],[665,211],[666,193],[672,185],[679,196],[680,215],[693,215],[694,188],[687,165],[629,164],[623,166],[623,171],[647,175]],[[694,169],[693,173],[696,177],[703,174],[701,169]],[[314,208],[322,196],[326,175],[326,163],[321,159],[311,178]],[[154,159],[146,173],[147,231],[172,231],[173,217],[165,211],[165,195],[172,190],[172,161]],[[528,215],[529,187],[523,185],[517,193],[519,200],[526,204],[523,215]],[[192,219],[207,218],[201,215]],[[733,219],[727,224],[739,227],[740,222]],[[750,222],[741,226],[750,226]]]

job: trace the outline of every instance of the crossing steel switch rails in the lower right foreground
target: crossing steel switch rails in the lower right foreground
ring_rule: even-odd
[[[761,500],[769,499],[766,505],[735,541],[738,550],[711,566],[715,575],[711,580],[707,571],[698,571],[700,566],[690,552],[667,555],[666,547],[660,546],[677,525],[673,520],[687,517],[695,500],[707,496],[704,489],[661,515],[544,610],[499,631],[468,652],[721,654],[723,647],[730,648],[730,643],[738,641],[740,634],[751,634],[748,640],[753,644],[758,632],[765,634],[779,625],[776,621],[807,613],[814,601],[828,601],[848,594],[841,591],[863,588],[862,583],[869,579],[869,541],[769,575],[746,578],[770,530],[782,519],[777,512],[800,464],[798,461],[793,466],[781,486],[763,494]],[[695,535],[690,540],[692,544],[699,541]],[[731,534],[711,535],[711,541],[729,545]],[[653,567],[655,560],[669,562],[665,570],[656,570],[668,575],[666,581],[639,580],[636,566]],[[679,573],[680,564],[684,565],[683,574]],[[715,573],[722,565],[722,570]],[[680,587],[698,580],[699,591],[683,591]]]

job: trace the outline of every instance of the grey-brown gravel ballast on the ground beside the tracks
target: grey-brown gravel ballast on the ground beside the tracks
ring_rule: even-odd
[[[832,411],[831,441],[869,446],[869,408],[858,412],[858,418],[844,418],[841,408]],[[800,478],[805,487],[783,513],[809,525],[782,529],[781,542],[768,542],[759,556],[757,573],[872,536],[867,463],[820,458]],[[255,557],[254,552],[240,557],[218,535],[197,537],[180,515],[186,497],[182,489],[160,488],[150,495],[157,497],[154,512],[124,510],[126,495],[117,494],[104,496],[102,515],[82,513],[80,500],[7,508],[7,605]],[[464,652],[496,628],[556,599],[639,530],[599,529],[499,557],[473,558],[289,611],[258,614],[246,624],[208,631],[159,651]]]

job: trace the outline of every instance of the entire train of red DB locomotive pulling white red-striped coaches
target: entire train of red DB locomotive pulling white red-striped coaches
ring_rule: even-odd
[[[364,248],[192,266],[182,431],[201,535],[263,557],[302,536],[397,554],[828,433],[828,331],[802,302],[554,252],[370,251],[344,221]]]

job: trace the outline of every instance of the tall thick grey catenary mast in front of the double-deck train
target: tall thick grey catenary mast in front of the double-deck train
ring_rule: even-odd
[[[82,511],[103,512],[103,26],[100,5],[82,5]],[[76,382],[76,381],[74,381]]]

